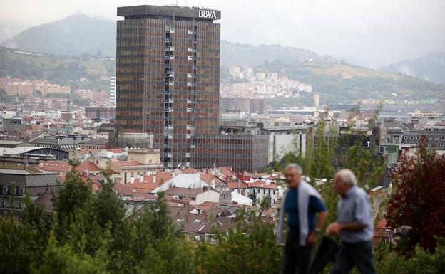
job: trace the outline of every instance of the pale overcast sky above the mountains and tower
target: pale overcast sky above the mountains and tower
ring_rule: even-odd
[[[0,40],[81,11],[116,20],[116,6],[175,0],[1,0]],[[445,0],[178,0],[222,11],[222,38],[305,48],[377,68],[445,51]]]

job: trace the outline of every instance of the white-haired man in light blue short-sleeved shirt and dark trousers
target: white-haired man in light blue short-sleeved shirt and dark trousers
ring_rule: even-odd
[[[357,265],[362,274],[375,274],[372,260],[374,222],[367,193],[356,186],[356,178],[349,169],[335,174],[334,189],[342,199],[337,205],[337,222],[331,223],[328,235],[339,234],[342,239],[331,274],[347,274]]]

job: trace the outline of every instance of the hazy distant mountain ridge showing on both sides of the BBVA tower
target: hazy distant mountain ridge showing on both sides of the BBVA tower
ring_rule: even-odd
[[[80,56],[82,53],[116,55],[116,22],[76,13],[64,19],[34,26],[1,42],[1,46],[23,51]],[[265,61],[339,62],[331,56],[287,46],[252,46],[221,41],[221,65],[261,65]]]

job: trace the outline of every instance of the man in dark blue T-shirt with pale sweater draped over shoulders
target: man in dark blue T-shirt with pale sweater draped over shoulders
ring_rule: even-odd
[[[285,274],[305,274],[310,263],[312,246],[317,241],[317,233],[323,226],[327,209],[318,191],[302,180],[302,168],[289,164],[285,169],[287,186],[280,211],[277,243],[282,241],[282,229],[287,214],[285,246]],[[316,214],[318,218],[316,219]]]

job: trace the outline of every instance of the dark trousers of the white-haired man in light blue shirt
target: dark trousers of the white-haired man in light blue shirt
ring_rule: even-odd
[[[372,241],[360,243],[344,243],[340,245],[335,256],[335,264],[331,274],[348,274],[357,266],[359,273],[375,274],[372,261]]]

